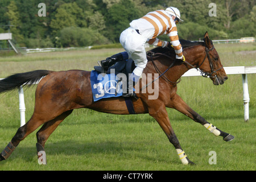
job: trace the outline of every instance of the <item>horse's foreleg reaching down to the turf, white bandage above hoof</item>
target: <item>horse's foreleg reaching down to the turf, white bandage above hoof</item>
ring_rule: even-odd
[[[180,146],[179,140],[177,139],[174,130],[171,127],[170,120],[168,118],[168,114],[166,111],[166,108],[164,105],[154,105],[152,108],[148,108],[149,114],[156,119],[156,121],[159,123],[160,127],[162,127],[164,133],[167,135],[170,142],[174,145],[177,154],[179,155],[179,158],[183,164],[194,164],[191,162],[187,155],[185,155],[185,152]]]

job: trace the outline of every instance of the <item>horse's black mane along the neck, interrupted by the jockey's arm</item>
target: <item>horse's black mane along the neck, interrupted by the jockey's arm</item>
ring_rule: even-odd
[[[205,42],[204,41],[190,41],[190,40],[184,40],[184,39],[180,39],[180,44],[182,46],[182,48],[188,48],[188,47],[192,47],[192,46],[205,46]],[[171,50],[171,51],[170,51]],[[175,51],[174,49],[170,49],[170,48],[162,48],[162,47],[156,47],[154,49],[151,49],[151,52],[154,53],[166,53],[168,55],[175,55]]]

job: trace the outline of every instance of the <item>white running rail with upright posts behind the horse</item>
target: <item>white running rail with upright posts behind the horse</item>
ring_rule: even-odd
[[[242,84],[243,84],[243,105],[244,105],[244,119],[245,122],[249,121],[249,89],[248,89],[248,81],[247,81],[247,74],[254,74],[256,73],[256,66],[253,67],[224,67],[226,75],[242,75]],[[189,76],[201,76],[200,72],[196,69],[190,69],[186,72],[183,77]],[[3,78],[0,78],[2,80]],[[35,84],[38,84],[36,82]],[[19,111],[20,111],[20,126],[25,125],[25,102],[24,102],[24,92],[23,87],[20,86],[19,88]]]

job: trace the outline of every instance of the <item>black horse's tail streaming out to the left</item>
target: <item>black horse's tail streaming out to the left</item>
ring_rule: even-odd
[[[40,78],[48,75],[51,72],[52,71],[48,70],[36,70],[11,75],[3,80],[0,80],[0,93],[18,89],[21,85],[31,86],[34,82],[39,81]]]

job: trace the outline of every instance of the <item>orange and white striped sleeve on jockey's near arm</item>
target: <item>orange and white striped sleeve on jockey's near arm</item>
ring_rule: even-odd
[[[183,49],[181,47],[179,36],[177,35],[177,27],[173,26],[170,32],[168,32],[168,36],[170,37],[172,46],[174,47],[175,53],[177,56],[183,56]]]

